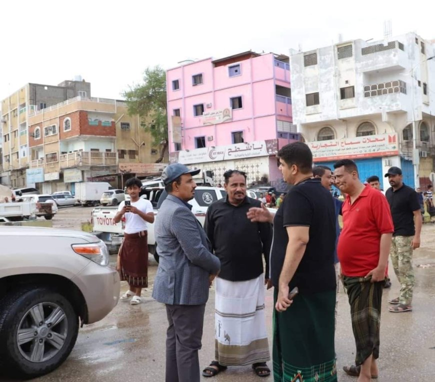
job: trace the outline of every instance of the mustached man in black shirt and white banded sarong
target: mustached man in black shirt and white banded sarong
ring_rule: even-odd
[[[202,375],[213,376],[227,366],[251,364],[258,376],[267,376],[270,354],[264,285],[271,287],[271,226],[246,217],[250,207],[261,207],[259,200],[246,196],[246,173],[227,170],[223,176],[227,196],[208,207],[204,224],[221,269],[215,279],[215,359]]]

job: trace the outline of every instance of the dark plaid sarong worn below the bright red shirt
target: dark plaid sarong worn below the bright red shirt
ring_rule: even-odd
[[[370,354],[373,354],[374,359],[379,357],[380,305],[385,281],[371,282],[370,279],[343,275],[350,304],[357,366]]]

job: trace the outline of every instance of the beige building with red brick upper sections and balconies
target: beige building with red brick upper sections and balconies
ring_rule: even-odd
[[[159,157],[143,128],[147,122],[128,115],[124,101],[77,96],[31,112],[28,123],[27,172],[44,193],[74,192],[81,181],[122,187],[119,164],[153,163]]]

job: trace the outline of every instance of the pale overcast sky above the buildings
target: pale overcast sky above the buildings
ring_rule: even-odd
[[[92,96],[121,98],[147,66],[245,50],[288,54],[338,40],[416,31],[435,38],[435,2],[421,1],[7,1],[0,4],[0,99],[27,82],[74,75]],[[426,4],[422,6],[423,4]],[[430,3],[432,5],[430,5]],[[358,5],[356,5],[358,4]],[[418,5],[418,6],[417,6]]]

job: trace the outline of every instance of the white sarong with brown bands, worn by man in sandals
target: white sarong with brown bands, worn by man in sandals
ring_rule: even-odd
[[[247,281],[215,278],[215,360],[223,366],[270,359],[264,274]]]

